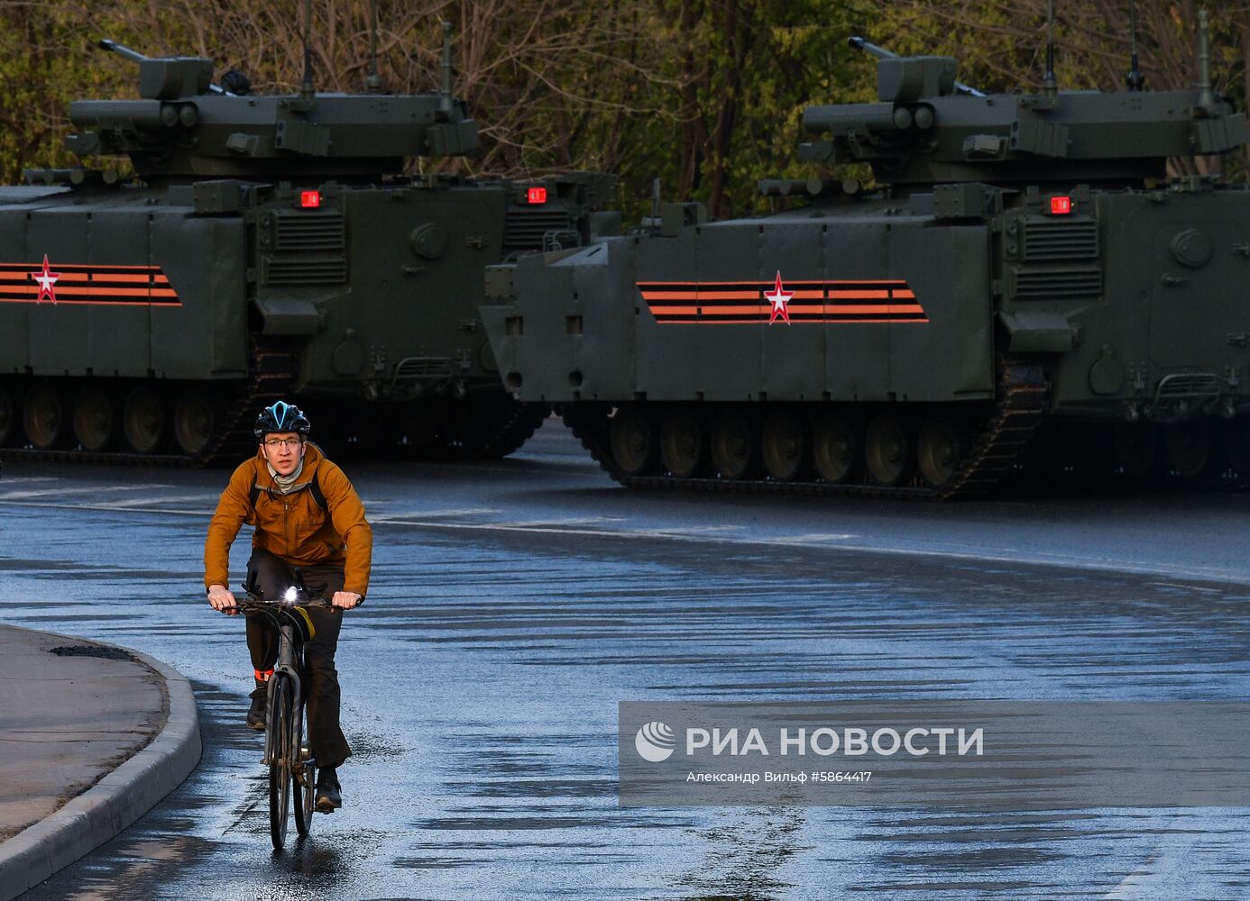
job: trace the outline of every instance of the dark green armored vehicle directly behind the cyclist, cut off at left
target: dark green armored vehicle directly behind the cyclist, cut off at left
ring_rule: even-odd
[[[405,175],[470,155],[441,91],[255,96],[208,59],[136,64],[139,99],[81,100],[70,150],[115,170],[0,188],[0,453],[205,462],[295,398],[319,439],[498,455],[546,408],[502,389],[486,263],[590,238],[606,176]]]

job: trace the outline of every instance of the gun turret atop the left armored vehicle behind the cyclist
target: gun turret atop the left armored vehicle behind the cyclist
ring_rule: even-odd
[[[370,178],[402,172],[410,157],[479,146],[476,122],[451,95],[449,47],[439,92],[314,94],[305,80],[296,95],[241,97],[212,85],[211,60],[98,46],[139,64],[140,100],[71,102],[78,132],[66,146],[126,155],[144,178]],[[245,80],[230,82],[246,90]]]

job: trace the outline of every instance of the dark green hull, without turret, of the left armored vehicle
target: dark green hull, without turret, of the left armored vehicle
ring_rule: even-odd
[[[542,203],[530,187],[0,188],[0,447],[202,462],[284,396],[328,439],[509,453],[545,411],[500,388],[484,266],[585,227],[584,182],[544,182]]]

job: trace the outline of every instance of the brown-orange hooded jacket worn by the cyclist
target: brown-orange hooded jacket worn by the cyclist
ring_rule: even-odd
[[[325,495],[324,510],[309,489],[314,475]],[[259,489],[255,508],[252,484]],[[292,567],[340,565],[345,578],[342,590],[364,597],[369,589],[374,532],[365,520],[365,505],[348,477],[316,444],[308,444],[300,480],[286,494],[275,487],[259,448],[255,457],[234,470],[204,543],[205,587],[229,588],[230,545],[244,523],[256,527],[252,548],[276,554]]]

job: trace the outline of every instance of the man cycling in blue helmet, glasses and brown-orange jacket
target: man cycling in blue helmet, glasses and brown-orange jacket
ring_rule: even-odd
[[[221,493],[204,544],[204,584],[216,610],[234,606],[226,588],[230,545],[244,523],[255,527],[248,584],[264,598],[280,598],[299,567],[310,592],[330,598],[329,608],[309,608],[315,628],[305,645],[309,743],[318,767],[316,809],[342,806],[338,767],[351,755],[339,725],[339,674],[334,653],[342,611],[369,588],[372,529],[355,489],[316,444],[299,407],[279,401],[260,412],[256,455],[242,463]],[[278,660],[278,629],[264,616],[248,616],[248,649],[255,670],[248,725],[265,728],[268,680]]]

